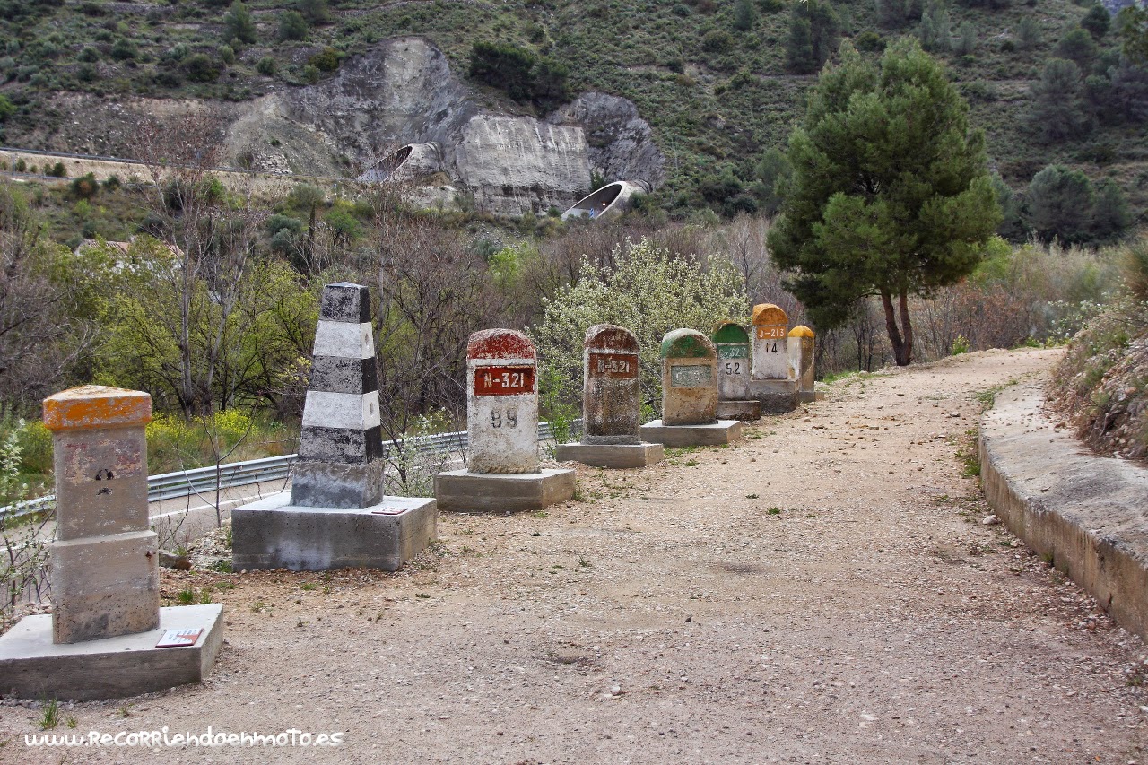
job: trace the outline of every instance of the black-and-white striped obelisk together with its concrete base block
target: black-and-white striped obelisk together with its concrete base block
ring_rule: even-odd
[[[323,288],[290,492],[232,511],[232,565],[395,571],[436,534],[434,500],[386,496],[366,287]]]

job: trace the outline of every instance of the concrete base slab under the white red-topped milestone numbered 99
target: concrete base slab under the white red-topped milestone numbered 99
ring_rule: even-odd
[[[542,510],[574,496],[574,471],[472,473],[451,470],[434,477],[440,510],[455,512],[522,512]]]

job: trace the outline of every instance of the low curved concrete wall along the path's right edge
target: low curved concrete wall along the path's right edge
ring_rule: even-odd
[[[1014,534],[1148,639],[1148,469],[1093,455],[1044,401],[1040,385],[1018,385],[985,412],[985,495]]]

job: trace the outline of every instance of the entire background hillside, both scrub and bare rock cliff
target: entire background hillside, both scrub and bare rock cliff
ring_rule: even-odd
[[[356,177],[419,142],[444,193],[489,209],[560,207],[597,173],[651,181],[672,214],[734,214],[769,209],[762,160],[837,41],[876,55],[912,34],[951,65],[1007,184],[1064,163],[1140,214],[1148,77],[1120,68],[1116,32],[1089,14],[1069,0],[2,0],[14,108],[0,113],[9,145],[131,155],[135,115],[209,103],[250,167]],[[472,78],[476,45],[544,82]],[[1032,88],[1054,56],[1077,64],[1080,114],[1048,140]]]

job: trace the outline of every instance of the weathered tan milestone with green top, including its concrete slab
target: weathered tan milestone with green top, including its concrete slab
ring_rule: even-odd
[[[661,419],[642,426],[642,438],[665,446],[729,443],[742,423],[718,419],[718,353],[696,330],[667,332],[661,340]]]

